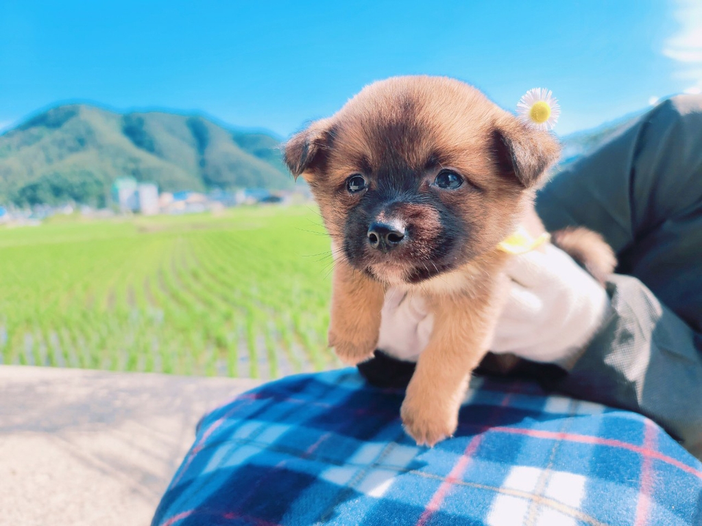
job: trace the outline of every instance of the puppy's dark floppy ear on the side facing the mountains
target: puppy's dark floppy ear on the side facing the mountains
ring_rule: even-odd
[[[315,168],[324,163],[326,152],[331,147],[329,120],[322,119],[310,124],[309,128],[293,135],[285,144],[285,163],[297,179],[300,175],[309,180]]]

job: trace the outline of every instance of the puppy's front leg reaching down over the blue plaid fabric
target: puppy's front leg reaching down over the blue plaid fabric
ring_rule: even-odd
[[[405,431],[433,446],[456,431],[470,374],[486,353],[494,323],[489,297],[432,300],[435,323],[402,403]]]

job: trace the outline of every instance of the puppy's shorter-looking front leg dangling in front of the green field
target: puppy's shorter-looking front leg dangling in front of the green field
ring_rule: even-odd
[[[348,365],[373,357],[380,333],[385,288],[338,260],[331,291],[329,346]]]

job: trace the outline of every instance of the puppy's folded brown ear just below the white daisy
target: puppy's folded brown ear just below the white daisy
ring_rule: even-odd
[[[512,115],[505,117],[493,132],[494,159],[501,173],[515,177],[524,188],[532,188],[558,161],[560,146],[548,131],[533,128]]]

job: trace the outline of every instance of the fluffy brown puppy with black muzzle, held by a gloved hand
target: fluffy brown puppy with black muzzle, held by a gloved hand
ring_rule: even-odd
[[[310,184],[335,250],[329,345],[339,358],[373,356],[390,286],[423,295],[435,313],[401,410],[419,445],[456,430],[505,299],[510,255],[498,245],[520,224],[543,228],[534,227],[534,191],[558,156],[549,133],[468,84],[430,76],[373,83],[286,144],[286,164]],[[560,235],[594,243],[570,248],[597,254],[593,274],[611,271],[596,234]]]

